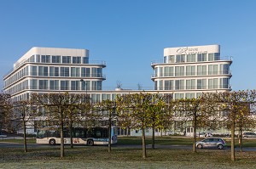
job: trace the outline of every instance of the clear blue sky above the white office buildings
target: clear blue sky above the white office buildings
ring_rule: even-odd
[[[256,88],[254,0],[0,0],[1,76],[32,47],[86,48],[104,89],[153,89],[164,48],[208,44],[233,56],[233,90]]]

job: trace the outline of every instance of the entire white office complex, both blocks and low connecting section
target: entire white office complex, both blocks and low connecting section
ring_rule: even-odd
[[[226,92],[230,86],[230,57],[222,57],[219,45],[165,48],[163,60],[151,64],[154,90],[146,93],[172,93],[174,99],[195,98],[201,93]],[[91,102],[115,99],[117,94],[142,90],[103,91],[102,74],[106,63],[90,61],[89,51],[71,48],[32,48],[3,77],[5,93],[14,101],[28,99],[30,93],[87,93]],[[83,80],[81,82],[81,79]],[[175,123],[174,132],[183,132]],[[150,130],[147,130],[150,134]],[[32,131],[31,131],[32,132]],[[127,131],[119,129],[119,134]],[[141,135],[140,131],[129,131]],[[156,133],[160,134],[159,132]]]

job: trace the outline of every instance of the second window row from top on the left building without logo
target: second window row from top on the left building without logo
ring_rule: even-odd
[[[26,66],[15,75],[10,76],[5,82],[8,87],[23,76],[66,76],[66,77],[103,77],[102,68],[85,67],[55,67],[55,66]]]

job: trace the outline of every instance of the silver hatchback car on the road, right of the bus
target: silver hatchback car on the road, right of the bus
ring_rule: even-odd
[[[196,142],[195,145],[198,149],[203,149],[203,148],[224,149],[224,147],[226,146],[226,143],[222,138],[206,138],[199,142]]]

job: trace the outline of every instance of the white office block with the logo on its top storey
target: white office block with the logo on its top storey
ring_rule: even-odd
[[[174,99],[231,90],[231,57],[220,55],[219,45],[165,48],[162,63],[152,63],[154,89],[172,90]]]

